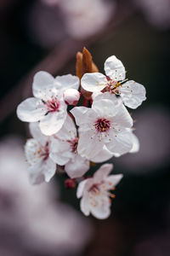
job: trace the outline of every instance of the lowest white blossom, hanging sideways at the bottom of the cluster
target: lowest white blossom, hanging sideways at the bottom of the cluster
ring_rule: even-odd
[[[117,183],[122,179],[122,174],[110,175],[113,165],[105,164],[89,177],[78,184],[77,198],[81,198],[80,207],[82,212],[88,216],[90,212],[95,218],[108,218],[111,214],[111,198],[109,192],[115,189]]]

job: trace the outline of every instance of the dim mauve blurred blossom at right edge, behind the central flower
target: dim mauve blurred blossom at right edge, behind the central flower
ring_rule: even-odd
[[[170,115],[166,108],[156,106],[135,114],[135,134],[139,137],[139,153],[123,155],[117,164],[126,167],[125,172],[153,172],[169,161]]]

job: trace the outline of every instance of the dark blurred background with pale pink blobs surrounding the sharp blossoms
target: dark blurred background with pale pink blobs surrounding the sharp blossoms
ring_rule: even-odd
[[[1,0],[0,20],[0,255],[168,256],[170,1]],[[100,72],[116,55],[147,91],[132,111],[139,153],[110,160],[124,178],[106,220],[82,216],[62,176],[31,187],[15,114],[34,73],[75,74],[83,46]]]

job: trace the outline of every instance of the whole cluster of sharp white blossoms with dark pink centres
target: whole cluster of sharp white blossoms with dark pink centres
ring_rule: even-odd
[[[18,117],[30,122],[33,138],[26,143],[26,160],[32,184],[48,182],[59,166],[64,166],[70,182],[78,182],[77,198],[81,210],[96,218],[110,215],[110,190],[122,179],[122,174],[109,175],[112,164],[104,164],[85,178],[90,162],[101,163],[139,150],[133,134],[133,119],[128,108],[138,108],[145,100],[142,84],[125,79],[125,67],[116,56],[105,61],[105,75],[84,73],[82,79],[71,74],[54,78],[38,72],[33,80],[33,96],[21,102]],[[77,106],[81,93],[91,92],[90,108]],[[77,128],[78,127],[78,128]],[[70,186],[72,184],[70,183]],[[72,186],[74,187],[74,185]]]

